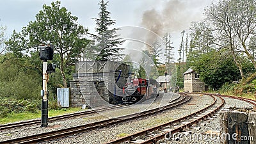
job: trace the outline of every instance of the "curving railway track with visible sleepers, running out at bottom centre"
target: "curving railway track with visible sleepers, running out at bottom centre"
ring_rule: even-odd
[[[207,95],[209,95],[209,94],[207,94]],[[174,134],[175,132],[179,132],[182,129],[186,129],[187,127],[190,127],[191,125],[198,123],[200,120],[205,120],[207,117],[216,113],[216,111],[218,111],[225,104],[225,100],[222,97],[214,96],[214,95],[210,95],[210,96],[212,97],[212,99],[214,99],[214,102],[212,102],[212,104],[207,106],[206,108],[201,109],[200,111],[197,111],[196,113],[192,113],[191,115],[184,116],[177,120],[173,120],[173,121],[167,122],[165,124],[157,125],[156,127],[152,127],[150,129],[146,129],[144,131],[140,131],[140,132],[131,134],[129,136],[125,136],[123,138],[110,141],[110,142],[108,142],[108,144],[122,143],[124,141],[126,141],[127,143],[130,143],[130,142],[131,143],[157,143],[157,141],[166,138],[166,136],[170,133]],[[207,109],[212,108],[214,105],[216,105],[216,100],[217,100],[216,97],[219,97],[219,99],[221,99],[221,104],[219,106],[217,106],[216,108],[214,108],[209,113],[206,113],[206,112],[203,113]],[[195,117],[198,114],[200,114],[202,116]],[[189,120],[189,122],[182,122],[182,121],[186,121],[186,120]],[[173,124],[176,124],[179,126],[173,127]],[[169,127],[169,128],[165,129],[165,127]],[[172,129],[170,129],[170,127],[172,127]],[[146,135],[152,134],[152,133],[154,133],[153,137],[146,136]],[[143,137],[143,139],[146,139],[147,137],[149,137],[149,138],[147,140],[141,140],[140,139],[141,137]]]

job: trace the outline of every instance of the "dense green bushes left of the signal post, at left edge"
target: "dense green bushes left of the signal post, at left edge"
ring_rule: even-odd
[[[38,71],[15,63],[12,54],[0,56],[0,59],[0,97],[39,99],[42,76]]]

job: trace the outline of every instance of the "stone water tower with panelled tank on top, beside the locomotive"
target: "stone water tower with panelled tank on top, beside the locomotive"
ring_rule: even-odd
[[[116,94],[122,92],[122,86],[127,82],[129,65],[114,61],[79,61],[76,62],[76,73],[70,81],[70,105],[79,107],[99,107],[113,104],[116,101],[115,81],[119,72],[122,75],[116,83]]]

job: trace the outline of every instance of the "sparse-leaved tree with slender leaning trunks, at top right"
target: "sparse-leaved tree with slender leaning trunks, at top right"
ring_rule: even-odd
[[[221,48],[230,49],[241,77],[243,67],[239,55],[245,55],[256,68],[256,61],[249,51],[248,41],[256,30],[256,3],[255,0],[221,0],[205,10],[207,20],[216,29],[214,44]],[[246,83],[256,77],[256,72],[247,77]]]

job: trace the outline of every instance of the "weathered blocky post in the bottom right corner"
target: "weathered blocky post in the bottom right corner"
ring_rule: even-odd
[[[222,144],[255,144],[256,113],[247,111],[221,111],[221,143]]]

